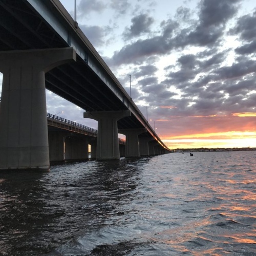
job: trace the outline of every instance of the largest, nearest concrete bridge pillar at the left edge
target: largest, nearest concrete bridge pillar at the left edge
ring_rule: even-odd
[[[49,169],[45,73],[71,60],[72,48],[0,53],[0,169]]]

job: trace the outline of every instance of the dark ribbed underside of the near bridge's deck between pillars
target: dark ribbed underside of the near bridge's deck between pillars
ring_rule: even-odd
[[[47,6],[51,1],[45,0],[44,3]],[[57,11],[56,15],[59,19],[63,19],[63,23],[66,22]],[[0,16],[1,51],[69,47],[68,42],[53,31],[51,26],[31,8],[28,1],[1,0]],[[89,41],[88,43],[90,44]],[[91,52],[86,53],[88,58],[91,54]],[[104,76],[110,76],[109,72],[106,71]],[[85,111],[127,110],[122,100],[105,86],[105,83],[87,65],[87,60],[79,56],[76,62],[58,66],[47,72],[45,78],[46,89]],[[133,113],[118,121],[118,129],[132,127],[144,127]],[[151,135],[144,133],[140,136],[150,137]]]

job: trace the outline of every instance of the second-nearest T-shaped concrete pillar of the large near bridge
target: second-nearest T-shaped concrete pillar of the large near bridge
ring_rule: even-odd
[[[131,111],[84,112],[84,118],[98,121],[97,160],[120,159],[117,121],[131,116]]]

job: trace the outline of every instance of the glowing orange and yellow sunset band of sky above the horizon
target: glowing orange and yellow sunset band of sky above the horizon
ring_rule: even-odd
[[[170,149],[256,147],[256,113],[190,116],[186,119],[186,123],[182,117],[157,120],[159,136]]]

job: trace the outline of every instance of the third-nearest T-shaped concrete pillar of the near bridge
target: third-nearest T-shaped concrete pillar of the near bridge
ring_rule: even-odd
[[[119,133],[126,136],[125,157],[140,157],[139,134],[146,132],[142,129],[121,129]]]

